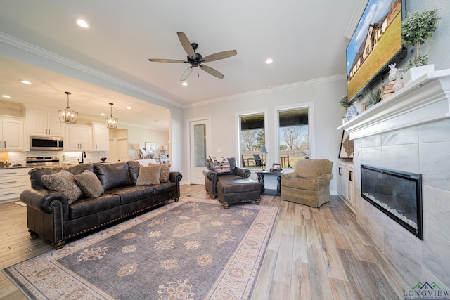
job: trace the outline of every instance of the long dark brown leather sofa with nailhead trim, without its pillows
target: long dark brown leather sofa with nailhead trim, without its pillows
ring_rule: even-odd
[[[103,186],[99,197],[84,195],[69,204],[63,193],[49,190],[42,181],[44,174],[62,169],[71,174],[94,172]],[[20,200],[27,204],[27,224],[32,237],[43,237],[53,248],[64,247],[66,240],[96,230],[121,219],[158,207],[180,196],[179,172],[169,173],[169,182],[136,185],[139,162],[74,164],[64,167],[42,167],[30,171],[32,188],[24,190]]]

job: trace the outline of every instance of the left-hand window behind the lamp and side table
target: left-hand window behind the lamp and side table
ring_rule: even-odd
[[[263,167],[265,157],[259,154],[259,150],[266,144],[264,113],[241,115],[239,120],[242,167]]]

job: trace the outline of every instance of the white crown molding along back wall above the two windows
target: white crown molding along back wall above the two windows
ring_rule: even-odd
[[[201,106],[201,105],[209,105],[209,104],[219,103],[219,102],[228,101],[228,100],[246,98],[246,97],[250,97],[250,96],[259,96],[259,95],[264,95],[264,94],[268,94],[268,93],[275,93],[278,91],[297,89],[302,86],[313,86],[315,84],[323,84],[326,82],[338,81],[338,80],[342,80],[342,79],[347,79],[347,75],[346,74],[338,74],[338,75],[333,75],[333,76],[328,76],[328,77],[311,79],[311,80],[307,80],[307,81],[300,81],[300,82],[296,82],[295,84],[285,84],[283,86],[274,86],[274,87],[271,87],[270,89],[261,89],[261,90],[257,90],[257,91],[246,92],[246,93],[238,93],[236,95],[231,95],[231,96],[226,96],[226,97],[221,97],[221,98],[214,98],[214,99],[210,99],[210,100],[186,104],[186,105],[183,105],[183,108],[196,107],[196,106]]]

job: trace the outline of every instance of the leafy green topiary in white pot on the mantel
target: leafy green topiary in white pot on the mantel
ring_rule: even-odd
[[[428,65],[428,55],[420,53],[420,46],[429,41],[437,30],[437,21],[440,19],[437,9],[431,11],[416,11],[408,13],[406,18],[401,22],[401,43],[405,47],[413,47],[414,57],[406,64],[406,72],[404,74],[405,83],[413,81],[417,77],[427,72],[435,70],[435,65]],[[412,70],[415,67],[421,67],[422,70]]]

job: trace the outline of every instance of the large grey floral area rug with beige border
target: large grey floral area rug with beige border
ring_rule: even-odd
[[[277,214],[185,197],[4,273],[30,299],[249,299]]]

